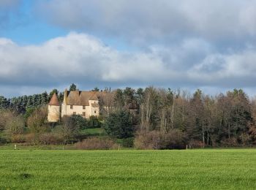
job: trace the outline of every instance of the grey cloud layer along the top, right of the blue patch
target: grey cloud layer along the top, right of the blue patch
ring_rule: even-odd
[[[251,0],[53,0],[38,5],[42,18],[58,26],[135,44],[183,37],[255,39],[256,3]]]

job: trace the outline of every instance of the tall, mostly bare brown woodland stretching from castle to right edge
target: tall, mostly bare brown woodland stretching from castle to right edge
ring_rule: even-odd
[[[131,113],[141,148],[255,145],[256,100],[241,89],[210,96],[200,90],[125,88],[116,90],[112,101],[105,99],[113,112]]]

